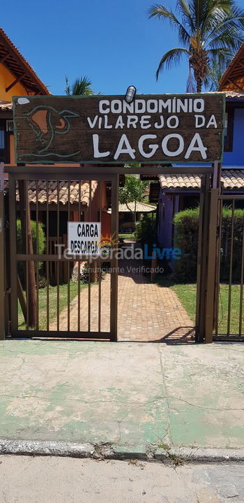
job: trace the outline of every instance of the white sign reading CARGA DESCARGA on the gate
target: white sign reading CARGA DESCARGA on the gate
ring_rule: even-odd
[[[100,254],[101,229],[100,222],[68,222],[68,254],[90,255]]]

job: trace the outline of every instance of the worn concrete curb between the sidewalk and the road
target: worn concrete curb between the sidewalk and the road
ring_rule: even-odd
[[[157,446],[113,446],[112,444],[77,444],[73,442],[51,442],[43,440],[0,439],[0,455],[49,455],[69,458],[93,458],[114,460],[146,460],[172,462],[242,462],[244,449],[212,449],[195,447],[171,447],[167,450]]]

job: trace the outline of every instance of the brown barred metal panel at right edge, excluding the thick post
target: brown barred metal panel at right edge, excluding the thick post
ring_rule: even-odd
[[[213,340],[244,340],[244,196],[218,196],[218,261]]]

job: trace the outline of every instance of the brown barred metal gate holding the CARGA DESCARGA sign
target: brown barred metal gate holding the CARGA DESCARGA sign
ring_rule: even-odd
[[[66,228],[74,219],[98,221],[102,232],[106,226],[105,245],[115,251],[119,175],[84,175],[78,167],[69,174],[53,166],[22,170],[9,168],[10,335],[116,341],[116,253],[71,260]]]

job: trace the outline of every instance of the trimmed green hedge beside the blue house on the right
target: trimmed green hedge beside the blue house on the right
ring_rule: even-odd
[[[220,280],[229,280],[231,255],[231,217],[229,207],[222,210],[222,236]],[[241,253],[243,240],[244,210],[234,212],[234,242],[232,279],[241,280]],[[176,275],[180,282],[195,282],[197,279],[199,208],[183,210],[174,215],[174,245],[181,249],[181,260],[176,261]]]

